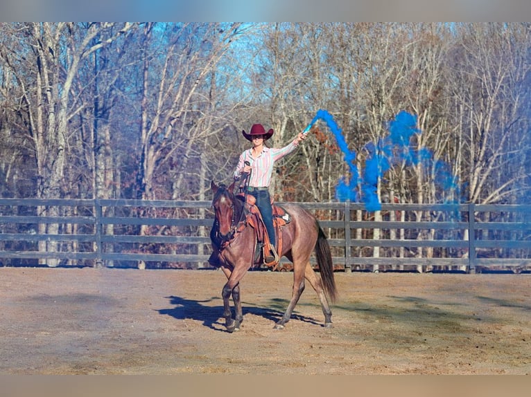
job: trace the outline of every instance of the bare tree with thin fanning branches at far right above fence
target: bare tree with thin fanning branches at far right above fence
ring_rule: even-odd
[[[530,32],[521,24],[457,26],[451,93],[459,123],[460,149],[468,152],[461,178],[472,203],[510,201],[525,174],[514,168],[528,122],[522,120],[530,73]],[[453,83],[453,84],[452,84]]]

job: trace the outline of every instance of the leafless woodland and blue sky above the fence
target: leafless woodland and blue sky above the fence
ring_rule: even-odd
[[[525,203],[531,25],[522,23],[1,23],[0,196],[209,200],[241,131],[286,145],[318,109],[356,165],[400,111],[433,167],[397,163],[382,201]],[[369,146],[367,146],[369,145]],[[349,165],[326,125],[276,167],[277,201],[334,201]],[[53,214],[51,214],[53,215]]]

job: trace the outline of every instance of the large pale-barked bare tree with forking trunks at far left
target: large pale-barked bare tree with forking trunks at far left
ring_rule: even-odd
[[[114,27],[114,24],[91,24],[85,28],[73,23],[2,25],[13,41],[22,43],[3,46],[0,57],[21,87],[27,133],[35,150],[38,198],[62,196],[65,162],[69,160],[69,120],[80,111],[79,107],[73,107],[73,83],[84,59],[110,44],[132,25],[123,24],[105,41],[94,42],[98,34]],[[58,216],[58,208],[41,208],[40,213]],[[57,234],[59,225],[42,224],[40,228],[43,234]],[[40,250],[55,251],[57,243],[43,242]],[[46,263],[56,266],[58,261],[50,259]]]

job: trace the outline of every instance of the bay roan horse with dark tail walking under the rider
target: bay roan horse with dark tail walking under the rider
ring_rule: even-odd
[[[238,330],[243,321],[240,281],[254,264],[254,230],[245,219],[245,203],[233,192],[234,183],[227,187],[223,184],[216,185],[212,181],[211,190],[214,191],[212,205],[216,216],[211,237],[216,234],[216,241],[218,243],[222,241],[219,248],[222,260],[219,265],[227,277],[227,283],[222,290],[223,315],[227,331],[232,332]],[[290,320],[304,290],[305,279],[317,293],[324,313],[324,326],[329,327],[332,325],[332,312],[328,299],[335,302],[337,292],[327,237],[310,212],[295,204],[286,203],[282,207],[290,214],[291,220],[281,228],[282,249],[278,254],[279,257],[284,256],[293,262],[293,292],[286,313],[274,328],[283,329]],[[214,249],[216,250],[216,247]],[[314,251],[320,277],[310,264],[310,257]],[[234,319],[229,302],[231,295],[234,302]]]

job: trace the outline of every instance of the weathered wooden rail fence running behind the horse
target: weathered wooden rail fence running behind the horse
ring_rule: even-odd
[[[336,270],[531,269],[531,205],[298,204],[320,220]],[[0,199],[0,261],[207,268],[213,218],[210,201]]]

